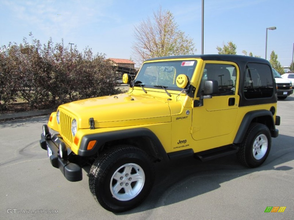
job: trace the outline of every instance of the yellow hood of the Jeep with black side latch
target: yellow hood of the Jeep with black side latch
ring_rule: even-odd
[[[59,106],[59,110],[72,115],[78,121],[78,128],[90,128],[90,118],[94,119],[95,128],[171,121],[166,98],[148,95],[118,94],[84,99],[63,104]]]

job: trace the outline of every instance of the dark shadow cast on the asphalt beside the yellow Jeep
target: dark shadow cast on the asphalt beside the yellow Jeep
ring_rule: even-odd
[[[291,136],[280,135],[278,138],[273,138],[267,160],[260,167],[253,169],[240,165],[235,155],[208,162],[185,158],[168,163],[158,163],[156,164],[155,184],[143,204],[130,211],[116,213],[116,215],[138,213],[175,204],[216,190],[224,182],[250,173],[265,170],[292,170],[293,167],[281,164],[294,160],[293,142],[294,137]]]

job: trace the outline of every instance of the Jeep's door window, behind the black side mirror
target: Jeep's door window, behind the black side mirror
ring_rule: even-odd
[[[218,92],[213,96],[233,95],[236,86],[236,68],[227,64],[206,64],[197,96],[201,95],[206,80],[218,82]]]

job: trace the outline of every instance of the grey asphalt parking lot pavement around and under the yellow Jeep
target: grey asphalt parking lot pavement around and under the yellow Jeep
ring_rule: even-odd
[[[69,182],[39,146],[49,116],[0,122],[1,219],[293,219],[294,95],[278,101],[278,138],[265,163],[248,169],[235,155],[157,164],[156,182],[139,207],[103,209],[83,180]],[[265,213],[267,207],[286,207]],[[49,213],[46,213],[49,212]],[[56,213],[58,212],[58,213]]]

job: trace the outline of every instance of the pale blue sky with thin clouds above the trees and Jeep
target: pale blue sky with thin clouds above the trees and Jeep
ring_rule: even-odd
[[[173,13],[181,31],[193,38],[201,53],[201,0],[84,0],[14,1],[0,0],[0,45],[21,43],[32,32],[42,44],[74,43],[82,51],[87,46],[106,58],[132,57],[134,26],[138,26],[159,6]],[[204,0],[204,53],[216,54],[217,46],[228,41],[237,45],[237,54],[246,50],[265,57],[278,55],[282,66],[292,60],[294,43],[293,0]]]

